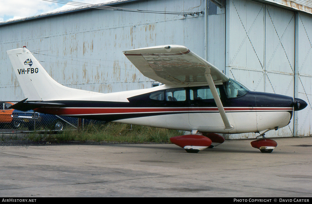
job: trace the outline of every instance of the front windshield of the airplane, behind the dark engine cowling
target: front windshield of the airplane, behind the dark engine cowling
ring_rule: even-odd
[[[246,95],[249,92],[245,86],[239,84],[233,79],[229,79],[228,81],[224,82],[223,85],[227,98],[240,97]]]

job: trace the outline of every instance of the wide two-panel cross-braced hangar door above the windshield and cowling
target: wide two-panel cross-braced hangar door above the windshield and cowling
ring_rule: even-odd
[[[250,90],[294,97],[295,13],[249,0],[229,0],[226,21],[226,74]],[[293,136],[293,121],[266,137]]]

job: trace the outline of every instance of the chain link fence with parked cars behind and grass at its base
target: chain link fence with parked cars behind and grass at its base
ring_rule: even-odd
[[[108,123],[38,112],[10,109],[13,103],[0,102],[0,144],[23,145],[62,142],[170,142],[184,132],[148,126]]]

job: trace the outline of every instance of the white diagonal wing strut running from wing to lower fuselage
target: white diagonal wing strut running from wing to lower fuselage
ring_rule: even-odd
[[[215,84],[213,82],[211,74],[205,74],[205,77],[206,77],[206,80],[208,82],[209,88],[211,90],[213,99],[215,100],[215,102],[217,104],[217,107],[218,107],[218,110],[220,112],[221,118],[222,118],[223,123],[225,125],[224,130],[227,130],[227,131],[233,130],[234,126],[230,124],[229,119],[227,118],[227,114],[224,111],[222,102],[221,102],[221,100],[219,98],[219,95],[218,95],[216,86],[215,86]]]

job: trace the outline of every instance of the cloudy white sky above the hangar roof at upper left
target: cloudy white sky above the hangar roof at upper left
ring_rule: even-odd
[[[90,4],[111,2],[114,0],[75,0]],[[43,13],[51,13],[75,8],[68,4],[60,4],[43,0],[0,0],[0,22],[11,21]]]

